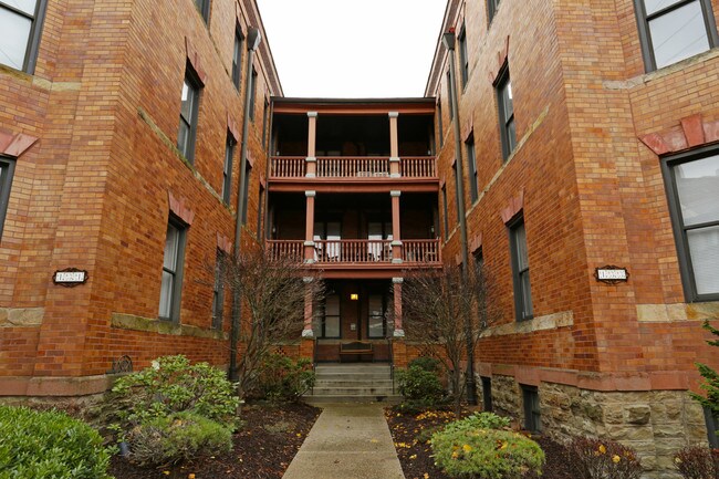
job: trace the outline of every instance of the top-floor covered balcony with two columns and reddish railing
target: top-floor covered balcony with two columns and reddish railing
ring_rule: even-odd
[[[274,104],[274,191],[437,191],[434,101]]]

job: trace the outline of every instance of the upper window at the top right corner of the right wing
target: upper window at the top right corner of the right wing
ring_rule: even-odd
[[[635,0],[635,7],[647,72],[718,43],[710,0]]]

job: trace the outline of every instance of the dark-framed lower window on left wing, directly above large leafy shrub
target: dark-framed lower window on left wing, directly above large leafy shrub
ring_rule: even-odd
[[[167,222],[163,283],[159,292],[159,317],[179,322],[180,291],[183,289],[183,262],[187,228],[175,217]]]

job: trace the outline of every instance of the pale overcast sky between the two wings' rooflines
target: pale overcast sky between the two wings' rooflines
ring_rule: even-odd
[[[284,96],[424,96],[446,0],[257,0]]]

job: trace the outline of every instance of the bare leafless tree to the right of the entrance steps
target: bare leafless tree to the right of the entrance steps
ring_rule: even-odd
[[[408,271],[403,313],[407,340],[423,355],[437,358],[447,372],[459,416],[467,378],[461,363],[475,356],[482,332],[496,317],[483,268],[462,270],[445,264]]]

